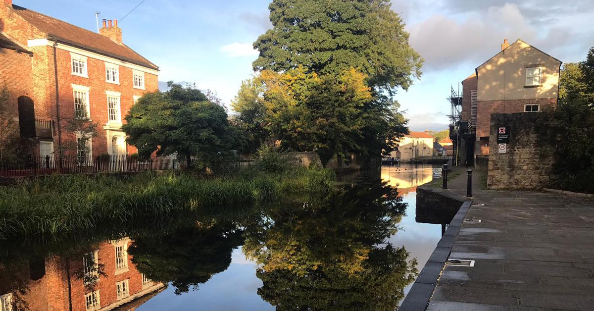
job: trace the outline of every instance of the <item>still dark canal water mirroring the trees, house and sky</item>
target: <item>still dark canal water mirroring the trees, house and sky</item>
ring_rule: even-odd
[[[441,238],[415,219],[439,174],[389,166],[383,183],[192,225],[3,246],[0,310],[396,309]]]

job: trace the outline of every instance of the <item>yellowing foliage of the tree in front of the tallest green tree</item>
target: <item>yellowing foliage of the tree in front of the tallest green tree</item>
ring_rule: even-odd
[[[272,135],[285,149],[315,150],[325,166],[350,153],[372,156],[396,147],[406,121],[378,105],[365,74],[353,68],[318,75],[303,66],[276,73],[264,70],[245,81],[233,102],[249,150]]]

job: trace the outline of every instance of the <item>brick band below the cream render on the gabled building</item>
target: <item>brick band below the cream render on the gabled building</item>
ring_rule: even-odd
[[[516,99],[516,100],[488,100],[479,101],[476,115],[476,137],[488,137],[491,127],[491,114],[511,114],[514,112],[524,112],[524,105],[541,105],[543,110],[549,106],[557,105],[557,98],[539,98],[539,99]]]

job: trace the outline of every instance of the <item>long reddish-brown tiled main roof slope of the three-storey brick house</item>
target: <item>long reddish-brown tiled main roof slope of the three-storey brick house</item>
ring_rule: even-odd
[[[31,11],[27,8],[19,7],[18,5],[12,5],[12,8],[18,15],[21,15],[25,20],[37,27],[37,29],[47,33],[48,39],[120,59],[121,61],[159,70],[157,65],[137,52],[134,52],[128,46],[119,45],[102,34],[91,32],[90,30],[68,24],[65,21]]]

